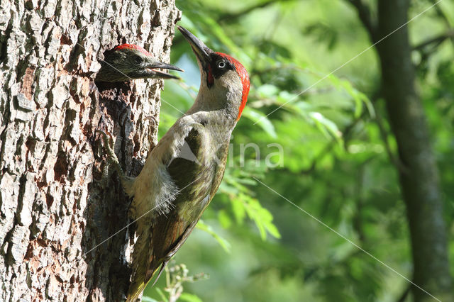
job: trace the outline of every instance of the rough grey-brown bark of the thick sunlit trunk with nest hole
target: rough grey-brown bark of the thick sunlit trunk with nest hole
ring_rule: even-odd
[[[162,80],[96,86],[105,50],[145,46],[168,62],[173,0],[1,1],[0,301],[118,301],[129,283],[128,198],[100,181],[96,129],[138,174]],[[114,179],[114,178],[111,178]],[[123,196],[118,198],[118,196]]]

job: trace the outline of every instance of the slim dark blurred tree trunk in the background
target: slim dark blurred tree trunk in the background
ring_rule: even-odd
[[[384,37],[408,20],[409,0],[378,1],[378,35]],[[399,171],[406,203],[414,283],[441,301],[453,301],[443,221],[443,200],[433,156],[426,116],[415,89],[414,65],[408,28],[398,30],[377,45],[382,68],[382,93],[399,158],[406,169]],[[413,286],[415,301],[433,301]]]

